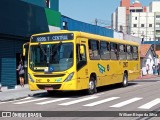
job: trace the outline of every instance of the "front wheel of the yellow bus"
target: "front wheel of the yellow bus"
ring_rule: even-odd
[[[94,77],[90,78],[89,81],[89,88],[88,88],[88,94],[94,94],[97,92],[97,88],[96,88],[96,80],[94,79]]]

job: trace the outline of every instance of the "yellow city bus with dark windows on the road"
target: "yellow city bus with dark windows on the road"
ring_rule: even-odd
[[[94,94],[100,86],[127,86],[140,75],[139,54],[139,44],[127,40],[66,30],[36,34],[29,42],[29,88]]]

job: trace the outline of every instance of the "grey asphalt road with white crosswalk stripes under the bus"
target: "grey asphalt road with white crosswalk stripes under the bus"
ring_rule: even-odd
[[[60,92],[52,96],[43,93],[35,97],[1,102],[0,111],[47,111],[36,115],[56,116],[54,120],[158,120],[160,117],[156,116],[160,111],[160,78],[132,81],[125,88],[120,85],[101,87],[94,95],[86,95],[84,91]],[[26,114],[23,113],[28,116]],[[17,114],[12,115],[16,117]]]

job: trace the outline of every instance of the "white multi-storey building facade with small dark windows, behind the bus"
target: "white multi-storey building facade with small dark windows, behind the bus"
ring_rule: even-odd
[[[145,41],[154,40],[154,13],[131,13],[129,26],[131,35],[144,38]]]

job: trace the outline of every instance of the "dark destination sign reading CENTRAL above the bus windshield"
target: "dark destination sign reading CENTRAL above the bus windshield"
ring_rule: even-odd
[[[31,42],[64,41],[64,40],[73,40],[73,38],[74,38],[73,33],[48,34],[48,35],[32,36]]]

